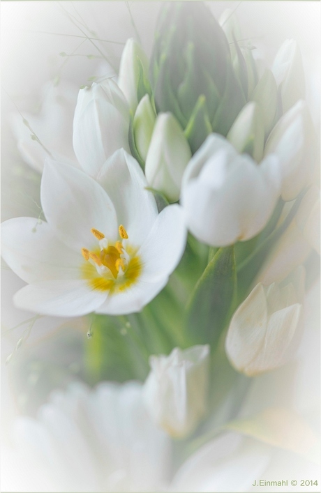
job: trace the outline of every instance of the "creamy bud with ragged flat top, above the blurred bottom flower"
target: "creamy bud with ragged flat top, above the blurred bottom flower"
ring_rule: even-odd
[[[169,356],[151,356],[144,402],[151,418],[172,437],[195,430],[207,411],[209,346],[175,348]]]

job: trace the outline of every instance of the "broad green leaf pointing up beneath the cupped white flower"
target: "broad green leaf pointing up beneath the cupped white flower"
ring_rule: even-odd
[[[234,246],[220,248],[205,268],[188,303],[186,331],[195,344],[216,345],[232,315],[236,291]]]

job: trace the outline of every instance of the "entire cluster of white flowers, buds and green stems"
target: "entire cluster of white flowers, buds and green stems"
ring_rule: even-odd
[[[248,377],[293,363],[317,277],[317,138],[297,42],[269,66],[232,11],[216,20],[204,3],[170,2],[151,56],[130,38],[117,75],[44,95],[38,114],[10,121],[41,213],[2,223],[1,255],[27,283],[17,308],[85,321],[80,379],[98,386],[74,382],[18,420],[26,485],[230,491],[225,448],[251,478],[271,460],[256,439],[297,453],[299,438],[262,438],[288,419],[301,437],[296,414],[239,416]]]

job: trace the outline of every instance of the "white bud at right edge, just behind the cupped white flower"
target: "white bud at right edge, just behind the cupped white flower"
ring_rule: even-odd
[[[315,160],[315,132],[304,101],[298,101],[271,131],[264,156],[276,154],[282,173],[282,198],[295,199],[311,181]]]

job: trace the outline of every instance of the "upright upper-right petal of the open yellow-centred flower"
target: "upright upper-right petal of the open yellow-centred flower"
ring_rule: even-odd
[[[116,151],[105,162],[97,180],[112,199],[117,222],[124,225],[130,244],[141,245],[158,217],[158,210],[154,195],[145,190],[148,184],[138,162],[124,149]]]

